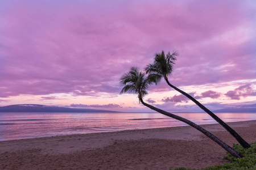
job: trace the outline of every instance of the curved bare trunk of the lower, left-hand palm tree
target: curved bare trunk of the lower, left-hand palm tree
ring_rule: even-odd
[[[180,117],[180,116],[177,116],[175,114],[172,114],[172,113],[169,113],[169,112],[166,112],[166,111],[163,111],[162,109],[158,109],[158,108],[155,108],[154,106],[150,105],[150,104],[147,104],[147,103],[144,103],[144,101],[142,99],[139,99],[141,101],[141,103],[143,105],[145,105],[146,107],[156,111],[156,112],[159,112],[161,114],[164,114],[166,116],[169,116],[169,117],[172,117],[172,118],[175,118],[176,120],[179,120],[181,122],[184,122],[185,124],[188,124],[190,126],[192,126],[193,128],[201,131],[201,133],[207,135],[207,137],[209,137],[210,139],[212,139],[214,142],[216,142],[218,145],[220,145],[222,148],[224,148],[227,152],[229,152],[229,154],[233,155],[234,157],[236,158],[242,158],[243,156],[233,150],[232,147],[226,145],[226,143],[222,142],[220,139],[218,139],[216,136],[214,136],[212,133],[210,133],[209,131],[205,130],[204,128],[201,128],[201,126],[195,124],[194,122],[191,122],[183,117]]]

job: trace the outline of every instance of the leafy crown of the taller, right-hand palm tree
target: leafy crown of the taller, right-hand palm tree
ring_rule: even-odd
[[[177,52],[172,54],[170,52],[164,54],[164,51],[156,53],[154,63],[147,65],[144,70],[146,70],[146,73],[162,75],[166,79],[172,73],[176,56],[178,56]]]

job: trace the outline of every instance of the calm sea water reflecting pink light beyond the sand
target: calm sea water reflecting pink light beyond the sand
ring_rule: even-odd
[[[215,124],[206,113],[176,113],[196,124]],[[256,120],[256,113],[217,113],[225,122]],[[0,113],[0,141],[184,126],[159,113]]]

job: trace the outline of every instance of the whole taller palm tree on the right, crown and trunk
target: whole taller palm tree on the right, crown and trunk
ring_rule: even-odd
[[[156,74],[158,75],[157,80],[160,80],[159,76],[163,77],[167,84],[174,88],[176,91],[180,92],[181,94],[188,97],[188,99],[192,100],[196,105],[198,105],[201,109],[203,109],[206,113],[208,113],[214,120],[216,120],[221,126],[223,126],[231,135],[233,135],[234,138],[240,143],[240,145],[244,148],[251,147],[249,143],[247,143],[236,131],[234,131],[232,128],[230,128],[229,125],[227,125],[224,121],[222,121],[219,117],[217,117],[214,113],[209,111],[206,107],[204,107],[203,104],[199,103],[196,99],[194,99],[191,95],[187,94],[186,92],[180,90],[179,88],[172,85],[168,80],[168,75],[172,73],[173,66],[175,64],[177,53],[173,52],[172,54],[168,52],[167,55],[164,54],[164,51],[162,53],[155,54],[155,61],[153,64],[147,65],[147,67],[144,69],[146,70],[146,73]]]

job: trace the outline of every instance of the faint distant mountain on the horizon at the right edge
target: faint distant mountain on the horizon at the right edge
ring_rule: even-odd
[[[256,104],[242,105],[241,107],[219,109],[213,112],[214,113],[256,113]]]

